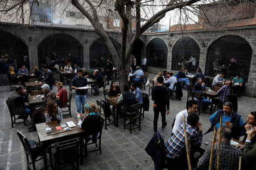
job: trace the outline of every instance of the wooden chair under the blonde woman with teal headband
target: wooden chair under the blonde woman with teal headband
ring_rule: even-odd
[[[90,138],[89,136],[85,137],[85,156],[88,152],[94,152],[94,151],[100,151],[100,154],[101,154],[101,135],[102,135],[103,125],[104,125],[104,118],[101,117],[101,125],[100,125],[100,131],[99,131],[100,134],[98,134],[96,141],[92,141],[92,138]],[[89,142],[89,141],[92,141],[92,142]],[[97,141],[98,141],[98,145],[97,145]],[[93,144],[95,144],[96,147],[98,147],[98,149],[88,151],[87,146],[93,145]]]

